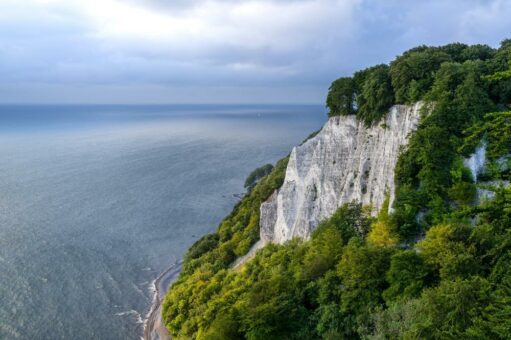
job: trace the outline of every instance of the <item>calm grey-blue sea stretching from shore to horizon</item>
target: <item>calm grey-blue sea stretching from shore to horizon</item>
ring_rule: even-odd
[[[0,106],[0,338],[138,339],[150,283],[321,106]]]

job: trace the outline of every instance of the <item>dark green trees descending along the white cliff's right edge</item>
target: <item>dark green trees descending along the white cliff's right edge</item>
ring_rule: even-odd
[[[474,197],[472,181],[453,175],[460,171],[464,131],[495,108],[481,78],[485,71],[482,61],[466,61],[443,63],[436,72],[425,96],[432,103],[425,106],[427,116],[396,166],[394,218],[405,238],[418,231],[419,211],[425,212],[423,224],[439,223],[452,210],[452,201],[467,205]]]

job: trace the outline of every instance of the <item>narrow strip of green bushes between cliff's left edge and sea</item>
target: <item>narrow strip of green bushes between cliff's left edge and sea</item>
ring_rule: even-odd
[[[288,157],[278,161],[215,233],[202,237],[188,250],[179,279],[163,302],[163,317],[171,334],[189,337],[202,327],[204,316],[193,307],[205,307],[232,262],[259,239],[259,208],[282,185],[287,162]],[[215,287],[212,282],[218,285]]]

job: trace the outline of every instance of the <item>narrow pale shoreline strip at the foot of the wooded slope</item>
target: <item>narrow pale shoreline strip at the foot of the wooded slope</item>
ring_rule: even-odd
[[[161,317],[161,303],[170,285],[177,280],[181,272],[182,261],[178,261],[162,272],[154,280],[154,296],[151,309],[144,320],[144,340],[167,340],[170,335]]]

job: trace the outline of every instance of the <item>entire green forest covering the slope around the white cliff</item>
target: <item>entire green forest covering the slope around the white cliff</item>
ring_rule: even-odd
[[[371,126],[422,101],[376,217],[351,203],[310,240],[259,239],[259,207],[288,158],[247,179],[247,195],[197,241],[163,303],[176,339],[511,339],[511,40],[499,48],[419,46],[335,80],[329,116]],[[474,178],[463,160],[486,148]],[[478,192],[487,197],[478,199]]]

